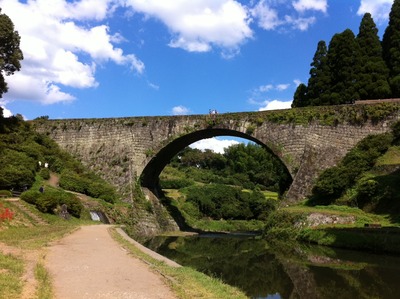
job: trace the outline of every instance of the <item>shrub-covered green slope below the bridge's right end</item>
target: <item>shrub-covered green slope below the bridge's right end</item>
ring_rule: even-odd
[[[400,169],[396,163],[400,154],[400,122],[392,128],[391,133],[361,140],[337,166],[322,172],[309,203],[344,204],[368,212],[400,214]],[[389,164],[384,162],[393,158]]]

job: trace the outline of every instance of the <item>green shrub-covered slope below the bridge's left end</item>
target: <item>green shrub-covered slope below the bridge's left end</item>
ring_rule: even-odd
[[[49,137],[32,130],[22,116],[4,118],[2,112],[0,108],[0,190],[26,191],[22,199],[42,212],[54,213],[65,203],[69,212],[79,217],[82,205],[74,195],[57,188],[39,192],[40,182],[53,172],[60,176],[60,187],[66,190],[110,203],[117,199],[110,184],[88,172]]]

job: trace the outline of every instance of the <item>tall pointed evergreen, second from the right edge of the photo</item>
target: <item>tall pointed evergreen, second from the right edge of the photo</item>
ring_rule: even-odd
[[[378,29],[370,13],[364,14],[356,40],[360,46],[360,72],[357,74],[360,100],[390,97],[389,69],[382,58]]]

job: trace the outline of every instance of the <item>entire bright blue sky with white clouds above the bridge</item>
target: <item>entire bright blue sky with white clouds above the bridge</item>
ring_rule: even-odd
[[[318,41],[393,0],[0,0],[24,53],[0,99],[26,119],[288,108]]]

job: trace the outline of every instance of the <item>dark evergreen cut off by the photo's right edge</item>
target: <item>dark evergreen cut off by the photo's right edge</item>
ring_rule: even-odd
[[[383,59],[390,71],[392,97],[400,97],[400,0],[394,0],[382,39]]]

